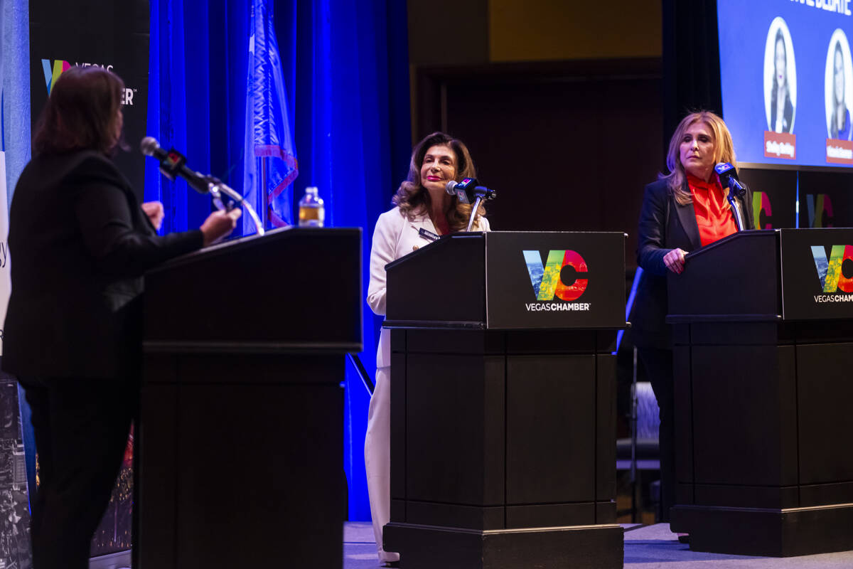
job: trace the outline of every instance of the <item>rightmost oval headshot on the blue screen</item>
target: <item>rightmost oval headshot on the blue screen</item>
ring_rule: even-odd
[[[824,77],[824,96],[827,105],[827,137],[851,140],[850,107],[853,106],[853,61],[850,44],[840,29],[829,38],[827,67]]]

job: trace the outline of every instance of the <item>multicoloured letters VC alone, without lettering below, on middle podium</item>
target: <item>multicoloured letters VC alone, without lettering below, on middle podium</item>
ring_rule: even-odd
[[[538,251],[524,253],[537,300],[553,300],[554,294],[558,299],[577,300],[586,290],[587,279],[577,278],[578,273],[587,272],[586,261],[577,251],[548,251],[544,267]]]

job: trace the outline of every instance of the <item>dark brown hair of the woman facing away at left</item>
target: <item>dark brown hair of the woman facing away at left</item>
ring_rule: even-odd
[[[35,154],[127,148],[116,136],[125,83],[102,67],[71,67],[56,79],[36,126]]]

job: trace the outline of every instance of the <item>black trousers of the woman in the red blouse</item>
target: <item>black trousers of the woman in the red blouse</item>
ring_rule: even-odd
[[[676,503],[676,425],[674,409],[674,378],[672,350],[637,348],[652,382],[654,397],[660,408],[660,521],[670,520],[670,508]]]

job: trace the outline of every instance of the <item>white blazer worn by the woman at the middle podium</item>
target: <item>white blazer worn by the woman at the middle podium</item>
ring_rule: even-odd
[[[479,218],[478,223],[480,231],[490,231],[488,219]],[[420,234],[421,229],[427,229],[438,235],[428,215],[408,219],[399,207],[383,213],[376,221],[373,247],[370,249],[370,283],[368,285],[368,305],[375,314],[385,316],[385,265],[432,243]],[[390,365],[391,335],[389,330],[382,328],[379,349],[376,351],[376,367],[386,368]]]

